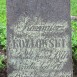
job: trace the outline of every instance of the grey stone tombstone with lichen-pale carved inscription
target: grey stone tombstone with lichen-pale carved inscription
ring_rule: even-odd
[[[69,0],[7,0],[8,77],[73,77]]]

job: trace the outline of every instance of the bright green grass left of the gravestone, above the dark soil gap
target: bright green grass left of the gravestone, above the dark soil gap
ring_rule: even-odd
[[[0,0],[0,45],[6,46],[6,0]]]

